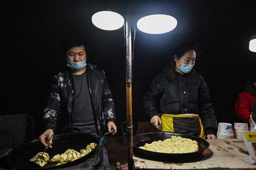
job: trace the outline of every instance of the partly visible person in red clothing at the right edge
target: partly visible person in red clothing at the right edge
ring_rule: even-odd
[[[256,95],[256,74],[254,79],[245,83],[244,91],[239,93],[234,111],[237,117],[244,122],[250,123],[252,110],[254,109],[254,99]]]

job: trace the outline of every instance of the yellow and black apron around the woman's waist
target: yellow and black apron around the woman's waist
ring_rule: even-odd
[[[198,114],[163,114],[161,121],[164,132],[176,132],[205,138],[203,124]]]

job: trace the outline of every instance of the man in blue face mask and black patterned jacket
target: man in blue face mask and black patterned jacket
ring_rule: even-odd
[[[45,146],[53,134],[87,133],[104,143],[106,127],[108,132],[117,132],[114,101],[105,72],[87,64],[85,48],[80,38],[66,43],[67,70],[54,75],[44,111],[46,130],[40,140]],[[50,140],[50,147],[51,143]],[[106,148],[104,152],[107,165]]]

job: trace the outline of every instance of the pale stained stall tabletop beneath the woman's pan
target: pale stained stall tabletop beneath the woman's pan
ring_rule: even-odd
[[[200,159],[172,163],[154,161],[134,155],[135,169],[256,169],[241,158],[249,158],[244,140],[239,138],[207,140],[210,147],[203,151]]]

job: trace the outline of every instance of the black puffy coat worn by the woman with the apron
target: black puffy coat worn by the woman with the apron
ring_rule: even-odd
[[[202,75],[195,70],[192,74],[175,74],[172,81],[164,73],[155,77],[143,98],[146,114],[150,118],[162,114],[198,114],[206,134],[215,134],[216,117]]]

